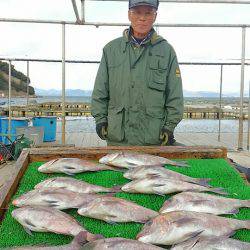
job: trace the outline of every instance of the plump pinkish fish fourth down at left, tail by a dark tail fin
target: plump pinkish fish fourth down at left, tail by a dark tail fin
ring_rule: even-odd
[[[87,232],[72,216],[51,207],[21,207],[13,210],[11,215],[30,235],[32,235],[31,231],[71,236],[76,236],[82,231]],[[100,237],[100,235],[87,232],[86,239],[92,241]]]

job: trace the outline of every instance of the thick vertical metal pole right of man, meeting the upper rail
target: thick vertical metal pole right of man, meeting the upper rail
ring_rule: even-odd
[[[241,54],[241,83],[240,83],[240,112],[239,112],[238,150],[243,150],[243,99],[244,99],[245,52],[246,52],[246,27],[242,27],[242,54]]]

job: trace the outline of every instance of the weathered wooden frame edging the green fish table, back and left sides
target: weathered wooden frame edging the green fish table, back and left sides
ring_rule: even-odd
[[[114,151],[133,151],[159,155],[170,159],[211,159],[227,158],[227,149],[219,147],[164,147],[164,146],[138,146],[138,147],[100,147],[100,148],[32,148],[24,149],[15,162],[14,175],[12,179],[0,189],[0,222],[7,206],[16,192],[18,184],[22,179],[27,167],[31,162],[48,161],[58,157],[78,157],[83,159],[98,160],[102,156]]]

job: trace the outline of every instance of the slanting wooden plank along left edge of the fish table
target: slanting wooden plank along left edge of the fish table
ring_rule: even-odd
[[[29,165],[29,150],[24,149],[15,163],[13,178],[7,181],[0,192],[0,221],[9,204],[12,195],[16,192],[19,181]]]

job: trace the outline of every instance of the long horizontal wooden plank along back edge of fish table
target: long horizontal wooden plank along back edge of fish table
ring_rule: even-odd
[[[33,148],[29,150],[30,161],[48,161],[58,157],[79,157],[85,159],[97,160],[102,156],[114,151],[133,151],[159,155],[170,159],[186,158],[227,158],[227,149],[223,147],[206,146],[109,146],[95,148]]]

